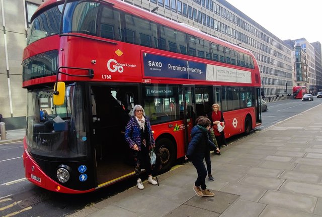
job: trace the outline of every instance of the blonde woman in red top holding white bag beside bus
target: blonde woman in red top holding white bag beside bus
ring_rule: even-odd
[[[218,131],[217,124],[219,123],[220,125],[225,126],[225,120],[223,119],[223,115],[222,115],[222,112],[220,111],[220,106],[218,103],[214,103],[211,106],[211,110],[212,112],[208,113],[207,118],[211,122],[211,126],[215,133],[218,147],[219,149],[221,149],[222,146],[227,146],[227,144],[226,144],[224,132]],[[220,155],[220,153],[217,153],[217,154]]]

